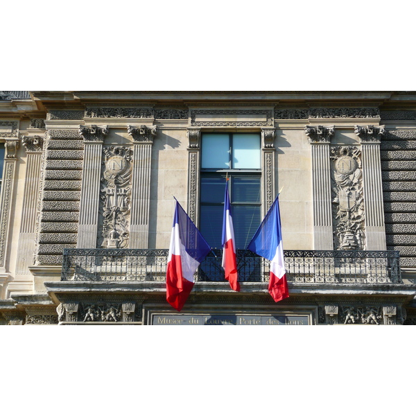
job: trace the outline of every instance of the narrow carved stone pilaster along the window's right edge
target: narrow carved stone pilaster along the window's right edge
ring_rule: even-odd
[[[262,216],[264,217],[275,200],[275,128],[261,128],[262,159]]]

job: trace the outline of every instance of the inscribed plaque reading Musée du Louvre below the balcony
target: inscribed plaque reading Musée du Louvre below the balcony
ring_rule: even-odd
[[[152,314],[152,325],[308,325],[308,315]]]

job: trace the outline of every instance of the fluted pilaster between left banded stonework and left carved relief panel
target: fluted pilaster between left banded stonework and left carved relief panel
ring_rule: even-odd
[[[107,125],[80,125],[84,139],[83,182],[81,186],[78,248],[96,248],[100,200],[101,153]]]

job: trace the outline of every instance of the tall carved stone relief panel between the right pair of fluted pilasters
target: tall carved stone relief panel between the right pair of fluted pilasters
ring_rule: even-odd
[[[331,148],[334,247],[364,250],[364,200],[361,150],[355,146]]]

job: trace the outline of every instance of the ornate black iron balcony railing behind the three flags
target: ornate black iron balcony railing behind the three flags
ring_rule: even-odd
[[[397,251],[286,250],[288,281],[295,283],[401,283]],[[65,249],[62,281],[165,281],[168,250]],[[202,261],[198,281],[225,281],[222,250]],[[239,281],[268,281],[270,261],[237,250]]]

